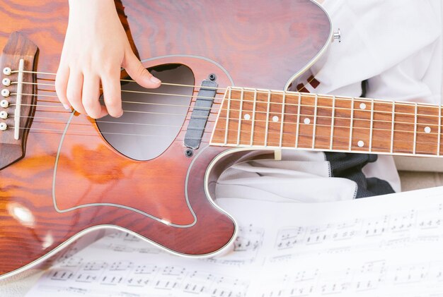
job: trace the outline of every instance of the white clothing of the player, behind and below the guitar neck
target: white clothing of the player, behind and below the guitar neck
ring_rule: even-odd
[[[439,0],[326,0],[334,30],[342,42],[303,78],[320,85],[310,92],[439,104],[442,89],[441,3]],[[297,71],[294,69],[294,72]],[[400,191],[393,158],[379,156],[363,169],[367,177],[388,181]],[[324,202],[355,198],[356,183],[330,178],[322,152],[287,151],[282,161],[238,164],[222,174],[218,198]]]

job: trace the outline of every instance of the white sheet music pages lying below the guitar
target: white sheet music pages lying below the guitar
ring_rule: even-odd
[[[443,188],[318,204],[217,203],[240,226],[225,255],[178,257],[117,232],[60,258],[27,296],[443,294]]]

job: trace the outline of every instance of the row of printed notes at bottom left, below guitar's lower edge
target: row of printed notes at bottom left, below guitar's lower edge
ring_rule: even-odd
[[[42,286],[40,291],[44,291],[45,296],[52,292],[100,296],[105,292],[103,288],[114,288],[120,290],[120,293],[129,293],[134,289],[143,292],[133,293],[132,296],[145,296],[145,293],[156,292],[160,296],[189,293],[200,296],[240,297],[245,295],[248,288],[248,282],[241,279],[180,265],[147,264],[147,262],[136,264],[119,260],[79,262],[76,269],[70,268],[60,265],[59,268],[52,269],[46,277],[53,285]],[[65,286],[64,283],[69,286]]]

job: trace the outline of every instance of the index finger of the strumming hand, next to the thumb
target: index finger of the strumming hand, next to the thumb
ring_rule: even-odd
[[[116,68],[114,73],[102,75],[101,85],[103,88],[103,99],[106,110],[110,116],[118,118],[122,116],[122,94],[120,87],[120,68]]]

